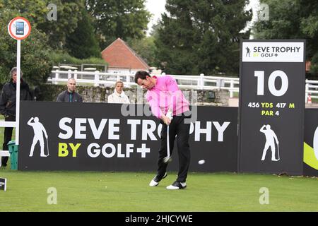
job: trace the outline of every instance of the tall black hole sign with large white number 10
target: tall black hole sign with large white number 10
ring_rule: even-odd
[[[305,41],[243,40],[240,172],[302,174]]]

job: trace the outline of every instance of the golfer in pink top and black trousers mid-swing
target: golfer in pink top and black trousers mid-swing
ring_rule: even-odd
[[[190,124],[184,119],[190,118],[189,102],[179,90],[177,82],[171,76],[151,77],[146,71],[137,71],[135,83],[147,89],[146,99],[151,107],[151,112],[163,124],[160,138],[158,157],[158,172],[151,180],[149,186],[157,186],[161,179],[167,177],[167,129],[169,129],[169,146],[173,150],[177,138],[179,155],[179,172],[175,182],[167,189],[185,189],[186,179],[190,164],[189,129]],[[171,118],[172,117],[172,118]],[[177,137],[176,137],[177,136]]]

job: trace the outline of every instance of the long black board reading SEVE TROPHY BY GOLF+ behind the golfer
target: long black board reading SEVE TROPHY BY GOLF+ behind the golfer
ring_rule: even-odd
[[[155,171],[161,126],[145,107],[21,102],[18,169]],[[194,107],[192,114],[189,170],[236,172],[237,108]],[[172,159],[168,169],[177,171],[176,144]]]

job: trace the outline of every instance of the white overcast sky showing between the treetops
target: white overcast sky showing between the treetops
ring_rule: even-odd
[[[249,0],[249,7],[253,9],[253,19],[256,19],[256,11],[259,0]],[[153,14],[151,21],[148,23],[147,35],[151,32],[152,26],[161,18],[161,13],[165,12],[165,0],[146,0],[146,8]]]

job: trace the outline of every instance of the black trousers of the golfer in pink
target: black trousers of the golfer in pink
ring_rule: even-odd
[[[172,155],[172,150],[175,145],[175,139],[177,139],[177,151],[179,157],[179,172],[177,177],[177,182],[186,182],[189,165],[190,165],[190,148],[189,148],[189,130],[190,124],[184,123],[184,119],[189,118],[189,114],[174,116],[171,124],[169,125],[169,145],[170,145],[170,155]],[[164,157],[167,156],[167,125],[163,124],[163,129],[161,130],[160,138],[160,150],[158,157],[158,177],[163,177],[166,169],[167,163],[163,162]],[[177,135],[177,137],[176,137]]]

